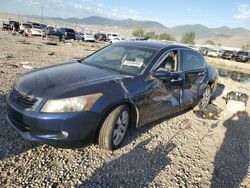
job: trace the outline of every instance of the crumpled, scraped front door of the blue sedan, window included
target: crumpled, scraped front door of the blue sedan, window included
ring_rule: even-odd
[[[179,71],[179,50],[166,52],[145,81],[145,110],[141,123],[149,123],[180,110],[182,73]],[[169,78],[157,78],[154,72],[168,72]]]

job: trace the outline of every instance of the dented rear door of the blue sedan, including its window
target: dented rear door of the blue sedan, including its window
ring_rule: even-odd
[[[188,108],[198,102],[206,87],[206,68],[204,57],[189,49],[181,50],[181,70],[183,87],[181,90],[181,108]]]

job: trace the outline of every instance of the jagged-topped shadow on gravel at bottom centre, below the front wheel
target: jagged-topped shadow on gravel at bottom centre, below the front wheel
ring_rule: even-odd
[[[171,163],[168,154],[176,147],[167,143],[147,149],[151,139],[142,141],[128,153],[98,168],[79,187],[148,187]]]

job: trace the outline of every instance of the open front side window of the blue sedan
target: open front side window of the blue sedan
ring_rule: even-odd
[[[179,52],[178,50],[173,50],[166,54],[165,58],[163,59],[157,70],[174,72],[179,69],[178,65],[179,65]]]

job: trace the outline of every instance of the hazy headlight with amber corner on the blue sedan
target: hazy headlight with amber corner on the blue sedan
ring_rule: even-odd
[[[48,100],[41,109],[41,112],[64,113],[87,111],[101,96],[102,93],[96,93],[79,97]]]

